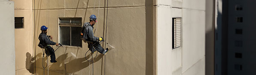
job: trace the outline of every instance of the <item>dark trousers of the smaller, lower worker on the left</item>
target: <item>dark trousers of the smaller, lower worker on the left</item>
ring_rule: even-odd
[[[50,60],[51,62],[56,61],[54,49],[51,48],[51,46],[47,46],[47,47],[46,47],[45,54],[48,55],[48,56],[51,55],[51,56],[50,56],[50,57],[51,57],[51,60]]]

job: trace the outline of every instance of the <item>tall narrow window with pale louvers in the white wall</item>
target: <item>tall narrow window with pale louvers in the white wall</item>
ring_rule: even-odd
[[[181,46],[181,18],[172,18],[172,49]]]

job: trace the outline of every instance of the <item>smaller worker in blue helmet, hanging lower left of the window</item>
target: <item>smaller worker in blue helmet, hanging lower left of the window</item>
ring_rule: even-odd
[[[52,39],[52,36],[47,36],[47,29],[48,29],[48,27],[46,27],[44,25],[41,27],[42,33],[40,33],[40,35],[38,37],[38,39],[40,41],[38,46],[40,48],[45,48],[45,54],[47,56],[51,55],[50,56],[51,57],[51,60],[50,60],[51,63],[56,63],[57,61],[56,61],[54,49],[51,48],[51,46],[49,46],[49,45],[56,45],[56,46],[58,46],[59,44],[56,43],[56,42],[52,42],[50,40],[50,39]]]

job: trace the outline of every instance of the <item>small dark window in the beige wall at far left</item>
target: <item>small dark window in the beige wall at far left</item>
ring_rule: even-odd
[[[15,28],[18,29],[18,28],[24,28],[24,17],[15,17],[14,18],[14,23],[15,23]]]

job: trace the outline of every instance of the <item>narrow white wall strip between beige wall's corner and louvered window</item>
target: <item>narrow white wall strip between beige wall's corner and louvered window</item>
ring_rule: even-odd
[[[158,0],[157,75],[172,75],[172,7],[170,0]]]

